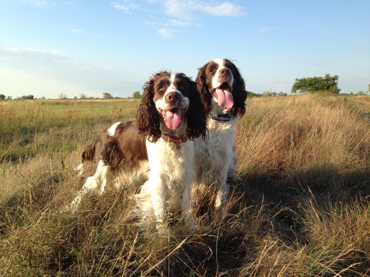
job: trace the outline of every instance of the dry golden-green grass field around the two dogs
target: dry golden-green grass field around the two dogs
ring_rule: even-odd
[[[139,184],[58,212],[72,168],[137,100],[0,102],[0,276],[370,276],[370,96],[248,98],[227,212],[137,236]]]

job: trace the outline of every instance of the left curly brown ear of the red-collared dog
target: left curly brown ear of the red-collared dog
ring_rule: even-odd
[[[145,136],[149,141],[156,142],[161,137],[159,113],[155,107],[154,80],[150,79],[143,86],[144,93],[136,114],[136,125],[139,134]]]

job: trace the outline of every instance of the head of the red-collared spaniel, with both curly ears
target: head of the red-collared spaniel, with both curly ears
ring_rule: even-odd
[[[136,115],[140,134],[155,142],[161,136],[161,129],[176,131],[184,128],[185,136],[190,140],[205,137],[206,110],[196,83],[188,76],[159,72],[143,88],[144,95]]]

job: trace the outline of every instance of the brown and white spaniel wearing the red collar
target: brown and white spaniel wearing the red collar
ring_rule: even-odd
[[[117,122],[102,131],[82,153],[81,164],[90,160],[85,184],[71,209],[83,197],[101,194],[113,178],[124,183],[147,175],[148,181],[136,195],[142,223],[161,228],[165,218],[166,196],[182,208],[193,224],[190,187],[195,178],[194,142],[206,136],[206,110],[196,83],[183,73],[154,74],[144,85],[136,121]]]

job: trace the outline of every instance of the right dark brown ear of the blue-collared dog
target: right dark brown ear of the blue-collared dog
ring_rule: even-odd
[[[234,68],[234,83],[232,89],[232,97],[234,105],[231,109],[231,116],[242,118],[245,113],[245,99],[247,99],[247,91],[245,90],[245,81],[240,74],[239,69],[231,63]]]

